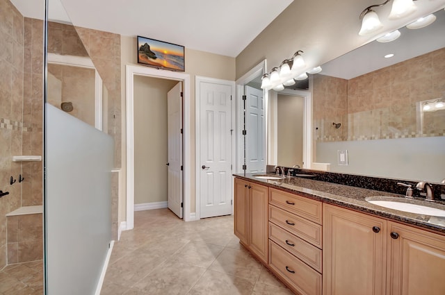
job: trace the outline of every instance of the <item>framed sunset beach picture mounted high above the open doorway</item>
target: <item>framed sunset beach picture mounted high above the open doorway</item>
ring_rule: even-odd
[[[138,63],[158,69],[185,71],[184,46],[138,36]]]

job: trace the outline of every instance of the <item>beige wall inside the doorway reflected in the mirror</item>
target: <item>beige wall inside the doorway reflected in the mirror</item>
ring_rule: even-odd
[[[277,165],[300,165],[303,162],[303,110],[305,99],[278,94]]]

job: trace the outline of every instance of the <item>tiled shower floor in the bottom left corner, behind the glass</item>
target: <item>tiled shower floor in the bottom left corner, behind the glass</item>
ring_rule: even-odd
[[[11,264],[0,271],[1,295],[42,295],[42,260]]]

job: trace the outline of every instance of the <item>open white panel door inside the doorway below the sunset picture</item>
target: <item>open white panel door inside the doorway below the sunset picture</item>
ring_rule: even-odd
[[[183,217],[182,190],[182,85],[177,83],[167,94],[168,112],[168,208]]]

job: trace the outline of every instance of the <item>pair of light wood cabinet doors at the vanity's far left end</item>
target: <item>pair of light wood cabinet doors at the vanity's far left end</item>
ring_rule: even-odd
[[[268,187],[235,178],[235,235],[268,263]]]

